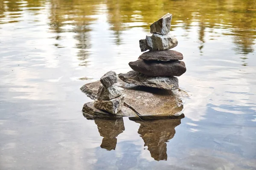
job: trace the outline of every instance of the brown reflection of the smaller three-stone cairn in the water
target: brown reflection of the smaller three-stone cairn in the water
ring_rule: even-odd
[[[85,114],[84,114],[85,116]],[[85,116],[87,117],[87,116]],[[87,117],[91,119],[91,117]],[[94,119],[95,124],[98,127],[100,136],[103,137],[101,148],[106,150],[115,150],[117,139],[116,137],[125,130],[124,121],[122,118],[113,119]]]

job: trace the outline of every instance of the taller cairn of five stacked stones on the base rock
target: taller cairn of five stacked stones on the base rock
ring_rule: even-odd
[[[169,50],[178,44],[178,40],[170,33],[172,14],[167,13],[150,26],[151,36],[140,40],[141,52],[135,62],[129,62],[134,71],[119,74],[119,78],[135,85],[143,85],[166,90],[175,90],[179,87],[178,79],[186,72],[183,55],[180,52]]]

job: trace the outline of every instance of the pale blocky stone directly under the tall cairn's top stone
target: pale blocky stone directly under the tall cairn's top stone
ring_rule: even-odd
[[[169,50],[178,45],[178,40],[171,34],[153,34],[152,36],[146,36],[145,40],[140,40],[141,52]]]

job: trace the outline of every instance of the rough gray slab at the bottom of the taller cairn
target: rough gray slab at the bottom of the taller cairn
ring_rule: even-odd
[[[175,90],[179,88],[177,77],[153,77],[141,74],[137,71],[129,71],[118,75],[122,81],[134,85],[141,85],[151,88],[160,88],[165,90]]]

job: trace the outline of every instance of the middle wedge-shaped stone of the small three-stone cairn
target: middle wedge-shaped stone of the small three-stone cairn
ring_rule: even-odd
[[[121,96],[124,89],[116,85],[111,85],[109,88],[105,88],[103,85],[99,86],[98,100],[111,100],[118,96]]]

